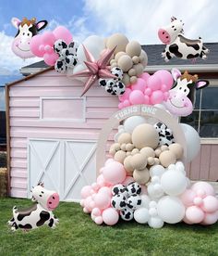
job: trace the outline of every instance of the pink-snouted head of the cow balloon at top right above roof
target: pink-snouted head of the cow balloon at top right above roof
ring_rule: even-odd
[[[183,26],[182,20],[172,17],[169,25],[159,29],[158,37],[164,45],[170,45],[176,40],[179,33],[183,33]]]

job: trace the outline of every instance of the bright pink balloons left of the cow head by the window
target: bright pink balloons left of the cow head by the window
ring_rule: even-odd
[[[158,70],[154,74],[142,73],[136,83],[127,87],[119,96],[119,109],[137,104],[155,105],[162,103],[169,96],[174,79],[167,70]]]

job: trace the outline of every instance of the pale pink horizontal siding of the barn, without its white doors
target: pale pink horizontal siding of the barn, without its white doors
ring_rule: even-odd
[[[81,109],[82,89],[82,83],[53,70],[9,87],[10,196],[27,197],[29,138],[97,141],[104,121],[117,111],[118,99],[95,84],[84,96],[84,109]],[[42,104],[43,99],[48,101]],[[54,112],[44,110],[46,106],[54,108]],[[83,110],[84,120],[81,120]],[[75,120],[68,119],[72,113]],[[53,115],[55,119],[51,119]],[[109,140],[112,137],[113,133]]]

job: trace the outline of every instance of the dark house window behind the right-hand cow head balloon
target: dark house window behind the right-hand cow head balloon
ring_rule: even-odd
[[[218,86],[196,91],[195,109],[181,122],[193,126],[200,137],[218,138]]]

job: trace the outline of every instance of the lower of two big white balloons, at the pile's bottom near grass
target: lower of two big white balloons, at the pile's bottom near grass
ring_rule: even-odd
[[[158,201],[158,215],[167,224],[176,224],[185,216],[185,206],[179,198],[165,196]]]

